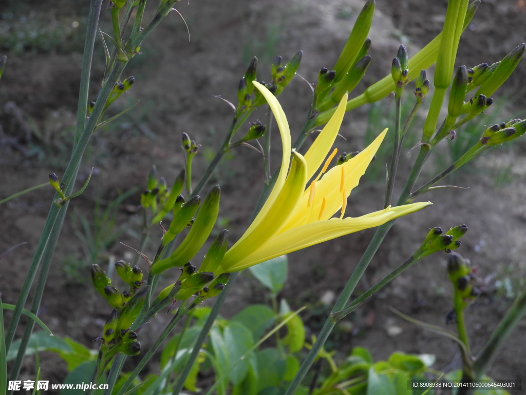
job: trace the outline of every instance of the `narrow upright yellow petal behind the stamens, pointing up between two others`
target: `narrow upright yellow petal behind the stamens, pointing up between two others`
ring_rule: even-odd
[[[336,136],[340,131],[341,122],[343,121],[343,115],[345,115],[347,96],[347,93],[343,95],[340,104],[336,108],[336,112],[332,115],[330,121],[325,125],[320,134],[318,134],[318,137],[316,137],[316,140],[312,143],[305,154],[308,170],[307,180],[310,180],[314,173],[316,173],[318,167],[321,166],[332,147],[332,144],[334,144],[334,141],[336,140]]]

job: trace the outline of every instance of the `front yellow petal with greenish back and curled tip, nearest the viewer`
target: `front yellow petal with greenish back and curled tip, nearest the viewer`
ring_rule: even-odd
[[[221,265],[225,267],[237,265],[246,256],[259,249],[278,233],[296,209],[307,182],[307,162],[299,153],[293,151],[292,154],[290,172],[272,208],[252,232],[246,233],[245,238],[227,251]]]

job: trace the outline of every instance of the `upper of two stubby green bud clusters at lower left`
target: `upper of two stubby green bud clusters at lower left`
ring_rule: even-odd
[[[92,265],[92,282],[95,290],[106,299],[109,305],[119,310],[127,305],[144,281],[143,271],[138,266],[132,268],[129,263],[118,261],[115,263],[115,269],[119,277],[130,287],[129,290],[119,292],[113,287],[112,280],[100,269],[99,265]]]

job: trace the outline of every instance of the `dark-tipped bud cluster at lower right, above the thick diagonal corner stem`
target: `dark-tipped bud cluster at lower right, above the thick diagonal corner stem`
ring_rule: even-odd
[[[456,308],[465,308],[480,294],[480,289],[475,286],[478,279],[474,270],[456,252],[449,256],[448,276],[453,283],[454,292],[460,297],[460,306],[456,306]]]

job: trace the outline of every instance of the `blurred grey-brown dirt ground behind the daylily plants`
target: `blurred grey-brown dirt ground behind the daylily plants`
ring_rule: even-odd
[[[0,199],[46,182],[50,172],[60,175],[65,169],[75,122],[88,3],[6,0],[0,4],[0,55],[8,55],[0,82]],[[363,3],[361,0],[179,3],[191,41],[184,23],[171,13],[143,43],[142,54],[124,72],[124,76],[135,76],[135,84],[126,97],[116,102],[111,114],[138,100],[139,104],[97,131],[86,152],[78,184],[86,180],[92,167],[94,177],[86,192],[70,205],[39,311],[39,317],[50,329],[93,347],[92,340],[100,335],[109,308],[90,285],[89,265],[99,263],[106,267],[112,259],[134,259],[118,241],[137,246],[138,191],[144,188],[153,164],[159,176],[173,182],[184,163],[180,147],[182,132],[203,145],[194,160],[194,184],[197,182],[231,118],[229,106],[212,96],[222,95],[235,102],[239,78],[252,56],[259,59],[258,78],[268,81],[270,63],[276,55],[287,61],[302,50],[299,74],[315,82],[322,66],[331,67],[335,63]],[[150,6],[151,16],[157,5]],[[370,34],[373,61],[355,93],[389,73],[400,43],[408,46],[411,55],[438,34],[446,6],[446,0],[377,0]],[[525,41],[525,16],[523,0],[483,0],[461,40],[458,64],[471,67],[500,60]],[[110,31],[106,9],[99,27]],[[96,43],[94,62],[90,100],[95,100],[104,72],[100,41]],[[521,83],[524,78],[526,62],[522,61],[495,95],[495,104],[486,115],[488,124],[526,116],[522,105],[526,98]],[[411,90],[406,89],[408,105],[414,100]],[[296,77],[280,96],[280,102],[294,140],[309,108],[308,85]],[[346,140],[338,140],[338,148],[346,152],[360,150],[371,134],[381,131],[380,127],[392,127],[393,107],[393,101],[382,100],[348,113],[341,129]],[[257,118],[265,119],[264,108],[256,111],[251,120]],[[417,120],[412,136],[408,136],[408,144],[418,141],[420,121]],[[481,127],[477,133],[482,133]],[[434,205],[396,222],[356,294],[407,259],[429,228],[466,223],[470,230],[458,251],[479,266],[485,288],[467,312],[468,332],[476,353],[514,295],[526,286],[526,155],[524,142],[516,142],[488,153],[450,180],[456,185],[469,186],[468,190],[442,190],[423,196]],[[423,172],[422,181],[451,163],[452,151],[446,142],[443,145],[437,159]],[[353,191],[347,215],[357,216],[381,208],[383,166],[389,160],[388,151],[379,152],[361,185]],[[274,144],[272,152],[275,164],[279,144]],[[407,175],[415,155],[402,155],[399,180]],[[260,156],[240,147],[227,155],[210,181],[210,185],[221,185],[219,222],[221,229],[230,229],[231,240],[248,226],[263,180]],[[397,187],[401,187],[401,182]],[[112,205],[128,191],[131,191],[128,197]],[[0,205],[0,251],[27,241],[0,262],[0,292],[6,303],[16,302],[52,197],[51,188],[44,187]],[[99,244],[86,251],[80,240],[86,236],[83,223],[91,224],[93,232],[93,223],[106,209],[114,220],[104,222],[97,237],[88,238]],[[363,231],[290,254],[289,279],[280,297],[286,298],[293,308],[308,305],[303,318],[309,334],[316,334],[321,328],[329,305],[343,288],[372,234],[373,230]],[[153,239],[160,236],[161,231],[154,230]],[[145,252],[152,255],[155,249],[156,243],[150,242]],[[452,309],[446,262],[446,254],[435,254],[403,273],[340,322],[327,348],[337,349],[338,355],[345,356],[352,347],[360,345],[371,350],[376,360],[385,359],[396,350],[431,353],[437,357],[434,368],[443,371],[459,368],[456,344],[403,322],[388,310],[392,305],[419,320],[445,326],[446,315]],[[173,278],[166,276],[163,281],[168,283]],[[265,301],[264,290],[250,274],[244,273],[229,295],[222,315],[231,317],[249,303]],[[9,319],[10,314],[6,313],[6,317]],[[159,331],[166,320],[159,315],[147,330]],[[23,327],[19,328],[18,334],[22,330]],[[148,347],[148,340],[141,341]],[[505,342],[489,376],[526,380],[524,344],[526,321],[522,320]],[[65,363],[47,353],[42,360],[43,377],[62,382],[67,374]],[[131,360],[127,367],[133,367],[133,363]],[[32,359],[28,358],[24,377],[34,374],[32,369]],[[150,371],[155,369],[154,363]]]

